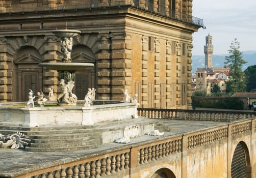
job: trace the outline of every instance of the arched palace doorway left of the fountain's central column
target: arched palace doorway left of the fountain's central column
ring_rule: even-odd
[[[14,56],[12,101],[27,101],[29,89],[35,94],[42,90],[42,56],[32,46],[21,47]]]

